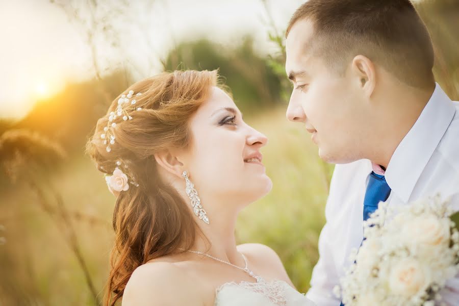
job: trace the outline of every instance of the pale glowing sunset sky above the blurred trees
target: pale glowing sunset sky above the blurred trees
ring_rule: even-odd
[[[116,1],[99,3],[110,4],[110,9],[118,6]],[[269,53],[272,48],[260,0],[156,0],[149,1],[153,5],[148,11],[140,2],[135,3],[110,23],[118,29],[123,57],[134,66],[147,67],[138,70],[139,78],[158,72],[159,58],[183,39],[206,36],[231,44],[242,34],[252,33],[260,53]],[[301,3],[268,1],[278,29],[286,27]],[[66,82],[91,77],[90,48],[83,33],[64,10],[49,0],[0,2],[0,117],[20,118],[37,100],[58,92]],[[120,50],[114,50],[103,39],[96,46],[104,59],[103,70],[116,68]],[[152,66],[145,65],[146,59],[151,59]]]

